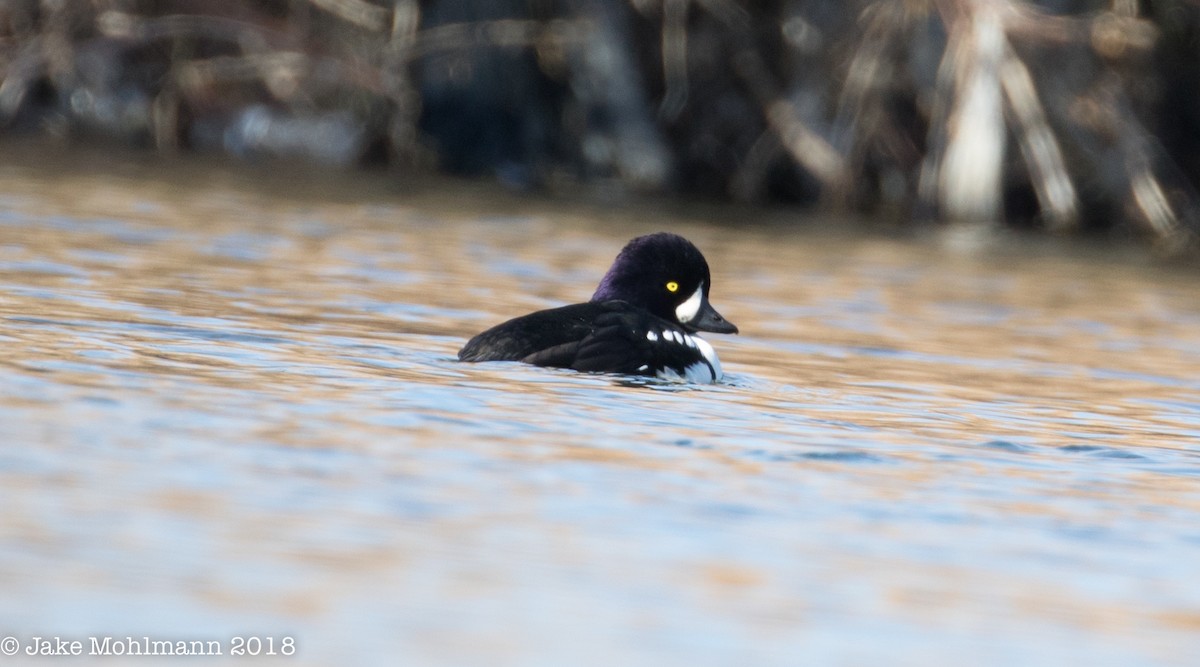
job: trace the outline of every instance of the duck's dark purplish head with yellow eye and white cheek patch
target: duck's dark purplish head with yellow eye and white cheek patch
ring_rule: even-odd
[[[613,260],[593,301],[620,299],[688,331],[737,334],[708,302],[708,262],[688,239],[660,232],[638,236]]]

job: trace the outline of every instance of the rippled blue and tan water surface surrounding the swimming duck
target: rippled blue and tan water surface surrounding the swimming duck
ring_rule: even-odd
[[[0,167],[0,635],[22,645],[1200,655],[1194,268],[120,160]],[[656,229],[701,246],[742,329],[709,337],[726,383],[455,361]]]

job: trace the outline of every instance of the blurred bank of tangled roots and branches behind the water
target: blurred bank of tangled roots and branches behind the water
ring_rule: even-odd
[[[0,0],[0,124],[1183,252],[1198,36],[1183,0]]]

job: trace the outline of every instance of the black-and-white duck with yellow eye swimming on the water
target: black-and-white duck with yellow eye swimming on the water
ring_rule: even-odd
[[[498,324],[468,341],[458,360],[716,383],[721,362],[697,334],[738,328],[709,302],[712,287],[708,262],[691,241],[667,232],[638,236],[589,301]]]

